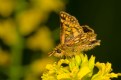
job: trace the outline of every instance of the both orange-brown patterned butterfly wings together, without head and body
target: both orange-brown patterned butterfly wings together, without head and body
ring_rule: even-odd
[[[100,45],[96,40],[94,30],[87,25],[80,26],[78,20],[68,13],[61,12],[61,44],[74,47],[78,46],[81,51],[92,49]],[[83,48],[81,48],[83,47]]]

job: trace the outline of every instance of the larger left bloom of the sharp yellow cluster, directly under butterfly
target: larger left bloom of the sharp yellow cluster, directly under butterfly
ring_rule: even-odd
[[[88,60],[87,55],[76,55],[72,58],[60,59],[57,63],[48,64],[48,72],[42,76],[43,80],[84,80],[93,72],[95,57]],[[90,64],[91,63],[91,64]],[[50,77],[50,78],[49,78]]]

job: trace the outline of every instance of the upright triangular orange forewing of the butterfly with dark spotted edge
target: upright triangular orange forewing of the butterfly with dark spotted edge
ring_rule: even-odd
[[[61,20],[61,44],[70,45],[70,40],[74,40],[76,36],[83,33],[82,27],[79,25],[78,20],[66,12],[60,12]]]

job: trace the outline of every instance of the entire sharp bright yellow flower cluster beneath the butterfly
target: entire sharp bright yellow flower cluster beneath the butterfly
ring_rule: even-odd
[[[94,73],[97,67],[98,72]],[[72,58],[60,59],[57,63],[48,64],[43,80],[110,80],[120,73],[111,72],[111,63],[95,64],[95,57],[88,59],[87,55],[79,54]]]

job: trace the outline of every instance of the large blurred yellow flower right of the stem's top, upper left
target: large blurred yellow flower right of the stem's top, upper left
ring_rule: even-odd
[[[45,20],[46,16],[44,13],[38,11],[37,9],[30,9],[21,12],[17,15],[17,21],[19,23],[19,30],[22,35],[28,35],[35,29],[38,25]]]

